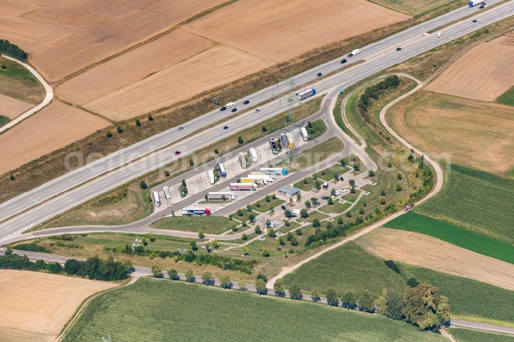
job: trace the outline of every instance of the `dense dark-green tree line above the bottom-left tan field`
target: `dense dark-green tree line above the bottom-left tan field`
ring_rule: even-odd
[[[0,269],[49,271],[53,274],[77,275],[96,280],[126,279],[131,268],[132,263],[128,265],[112,258],[103,260],[96,256],[85,261],[69,259],[64,268],[59,262],[30,261],[26,255],[13,254],[11,249],[7,249],[5,254],[0,256]]]

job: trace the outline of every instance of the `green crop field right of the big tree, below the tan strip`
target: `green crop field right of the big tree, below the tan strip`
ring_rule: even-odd
[[[439,288],[440,294],[448,296],[454,316],[467,320],[485,319],[491,324],[514,327],[514,291],[409,264],[397,264],[406,279],[412,277],[421,283],[430,283]]]

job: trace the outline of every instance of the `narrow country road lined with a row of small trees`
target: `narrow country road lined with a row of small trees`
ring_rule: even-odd
[[[5,252],[5,249],[0,248],[0,255],[3,255],[4,252]],[[45,254],[45,253],[37,253],[37,252],[25,252],[25,251],[13,251],[13,252],[18,255],[22,255],[22,256],[26,255],[31,260],[44,260],[47,262],[59,262],[61,264],[64,264],[66,262],[66,260],[71,259],[71,258],[64,257],[64,256]],[[77,258],[75,258],[75,259],[77,259]],[[78,259],[78,260],[81,260],[81,259]],[[133,273],[135,273],[138,276],[153,275],[152,271],[150,269],[144,268],[144,267],[135,267]],[[164,271],[161,276],[168,277],[168,273],[166,271]],[[181,273],[178,274],[178,278],[181,280],[186,280],[185,275],[183,275]],[[191,278],[190,280],[194,281],[194,282],[203,282],[201,280],[201,277],[196,276],[196,275],[193,278]],[[221,283],[219,282],[219,279],[216,279],[216,278],[214,279],[214,281],[209,282],[209,284],[221,287]],[[228,288],[234,289],[234,290],[240,290],[239,284],[237,282],[230,283]],[[254,284],[245,284],[244,290],[256,292]],[[262,294],[277,295],[277,293],[272,288],[267,288],[266,291],[264,291]],[[289,297],[289,291],[284,291],[282,293],[279,293],[279,296],[280,297]],[[312,301],[313,298],[308,294],[302,294],[301,297],[298,298],[298,300]],[[326,298],[324,298],[324,297],[316,298],[316,301],[318,301],[320,303],[325,303],[325,304],[327,303]],[[338,304],[341,305],[341,302],[338,302]],[[514,335],[514,328],[502,327],[502,326],[491,325],[491,324],[483,324],[483,323],[477,323],[477,322],[469,322],[469,321],[465,321],[465,320],[453,320],[452,319],[450,326],[472,328],[472,329],[479,329],[479,330]]]

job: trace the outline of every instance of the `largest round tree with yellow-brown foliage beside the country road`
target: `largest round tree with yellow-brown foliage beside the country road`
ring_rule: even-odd
[[[419,284],[415,288],[407,288],[403,294],[404,306],[401,312],[419,330],[432,329],[439,325],[435,296],[438,290],[429,284]]]

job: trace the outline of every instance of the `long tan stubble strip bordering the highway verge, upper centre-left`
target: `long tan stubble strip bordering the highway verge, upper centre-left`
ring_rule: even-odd
[[[271,64],[246,52],[217,45],[85,107],[109,119],[123,120],[189,99]]]

